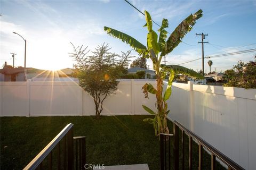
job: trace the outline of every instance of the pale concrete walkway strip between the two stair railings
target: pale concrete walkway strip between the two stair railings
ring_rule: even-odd
[[[104,166],[104,168],[98,167],[93,168],[94,170],[97,169],[104,169],[104,170],[149,170],[148,164],[135,164],[135,165],[115,165],[115,166]]]

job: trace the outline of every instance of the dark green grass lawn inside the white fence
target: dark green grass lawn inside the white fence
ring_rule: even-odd
[[[147,163],[159,169],[159,141],[153,126],[142,120],[149,115],[65,117],[1,117],[1,169],[22,169],[68,123],[74,124],[74,136],[85,135],[87,162],[125,165]],[[172,132],[172,123],[169,121]],[[186,150],[188,150],[188,139]],[[193,169],[198,166],[198,146],[194,143]],[[188,165],[188,151],[185,152]],[[210,169],[210,155],[204,152],[203,169]],[[219,163],[217,169],[225,169]]]

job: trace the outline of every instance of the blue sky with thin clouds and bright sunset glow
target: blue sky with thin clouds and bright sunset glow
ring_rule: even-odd
[[[182,43],[166,55],[166,64],[180,64],[202,57],[256,48],[256,1],[129,1],[142,12],[147,10],[151,18],[161,25],[169,20],[172,32],[189,14],[200,8],[203,16],[187,33]],[[121,40],[107,35],[103,27],[117,29],[139,40],[146,46],[147,28],[142,27],[145,16],[125,1],[0,1],[0,67],[4,62],[15,66],[24,65],[25,42],[12,32],[27,40],[27,67],[58,70],[73,67],[75,61],[69,56],[73,47],[84,45],[93,51],[95,47],[108,43],[111,52],[121,54],[131,47]],[[157,32],[159,27],[153,24]],[[167,35],[168,37],[170,35]],[[256,52],[205,59],[212,60],[212,71],[231,69],[239,60],[254,60]],[[133,51],[132,55],[138,57]],[[133,60],[135,60],[133,58]],[[152,69],[151,61],[147,61]],[[194,70],[202,69],[202,60],[182,64]]]

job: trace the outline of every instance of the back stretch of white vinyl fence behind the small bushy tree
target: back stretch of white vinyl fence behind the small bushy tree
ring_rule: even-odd
[[[144,97],[141,87],[145,83],[121,80],[115,94],[104,101],[102,115],[147,114],[141,105],[154,107],[155,97]],[[77,82],[0,82],[0,87],[1,116],[95,115],[93,98]]]

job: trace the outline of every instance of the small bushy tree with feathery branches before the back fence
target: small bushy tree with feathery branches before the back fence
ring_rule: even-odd
[[[116,79],[123,74],[124,66],[127,66],[131,57],[131,50],[119,56],[110,53],[108,44],[103,44],[96,47],[92,55],[86,56],[89,53],[87,47],[73,45],[73,48],[74,52],[70,53],[70,56],[77,62],[79,86],[93,97],[95,115],[98,120],[103,110],[103,101],[117,89],[119,82]],[[116,60],[117,57],[119,60]]]

